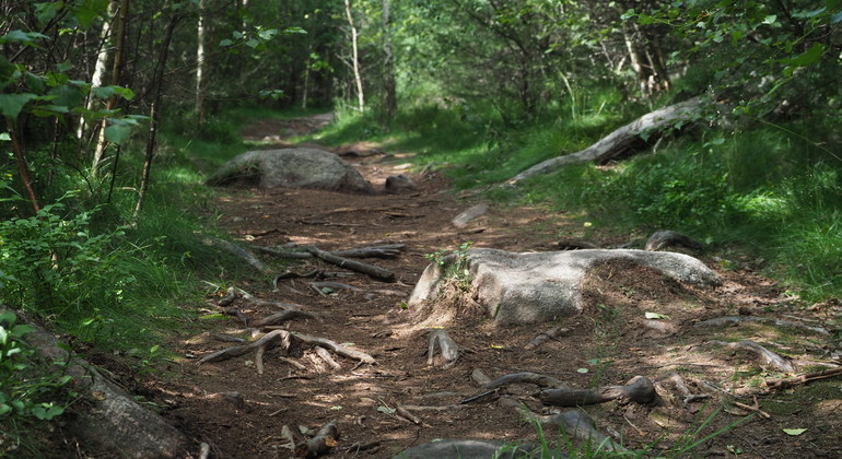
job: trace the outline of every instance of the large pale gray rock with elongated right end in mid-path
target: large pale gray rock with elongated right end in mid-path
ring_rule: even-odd
[[[582,281],[598,263],[628,260],[674,280],[698,286],[717,286],[720,278],[698,259],[669,251],[589,249],[514,254],[471,249],[460,259],[451,255],[430,264],[416,284],[408,306],[435,299],[447,273],[468,270],[471,295],[496,323],[535,323],[582,311]]]

